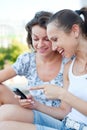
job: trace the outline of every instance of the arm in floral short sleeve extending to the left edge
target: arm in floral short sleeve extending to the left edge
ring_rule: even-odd
[[[30,64],[29,61],[29,53],[19,55],[12,66],[0,70],[0,83],[15,77],[17,74],[24,76],[27,73],[27,69],[25,68],[28,68]]]

